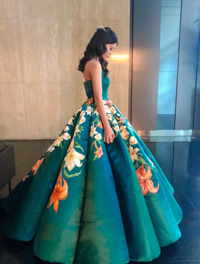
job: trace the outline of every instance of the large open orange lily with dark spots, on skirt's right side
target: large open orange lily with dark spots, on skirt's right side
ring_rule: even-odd
[[[150,178],[152,176],[150,166],[148,166],[147,172],[145,171],[143,164],[142,164],[141,171],[140,171],[140,168],[141,168],[141,166],[136,170],[136,174],[137,174],[138,181],[139,181],[140,187],[142,189],[143,195],[146,195],[148,191],[152,192],[152,193],[158,192],[159,182],[158,182],[158,186],[155,188],[153,186],[152,180],[150,180]]]

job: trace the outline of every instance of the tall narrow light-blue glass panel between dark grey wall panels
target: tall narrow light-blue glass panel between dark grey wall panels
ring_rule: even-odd
[[[174,129],[180,15],[181,1],[162,1],[157,109],[161,130]]]

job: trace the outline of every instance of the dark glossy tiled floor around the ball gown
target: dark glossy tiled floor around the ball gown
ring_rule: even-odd
[[[130,261],[130,264],[200,264],[200,141],[198,138],[192,142],[178,142],[178,137],[176,139],[177,142],[176,140],[164,142],[163,137],[163,142],[159,139],[159,142],[145,144],[173,186],[174,197],[183,210],[183,220],[179,224],[182,236],[177,242],[161,247],[161,255],[154,261]],[[12,179],[12,188],[46,152],[53,141],[54,139],[5,141],[7,145],[14,146],[16,176]],[[1,199],[3,196],[6,197],[7,189],[8,187],[4,188],[0,193]],[[2,208],[0,210],[2,221],[4,210]],[[33,254],[32,242],[17,242],[0,232],[0,264],[48,263]]]

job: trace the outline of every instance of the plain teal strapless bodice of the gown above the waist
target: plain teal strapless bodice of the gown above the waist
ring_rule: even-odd
[[[102,69],[102,98],[103,99],[108,99],[108,86],[110,84],[110,79],[108,76],[104,76],[105,72]],[[94,92],[93,92],[93,83],[92,80],[88,80],[86,82],[83,82],[84,87],[85,87],[85,92],[88,96],[88,98],[91,98],[93,96],[94,98]]]

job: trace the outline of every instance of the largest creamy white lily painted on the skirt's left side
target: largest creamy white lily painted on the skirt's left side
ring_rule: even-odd
[[[85,155],[77,152],[74,148],[72,148],[64,158],[64,167],[68,167],[68,171],[70,172],[75,166],[81,167],[83,165],[83,162],[81,163],[81,160],[83,160],[84,158]]]

